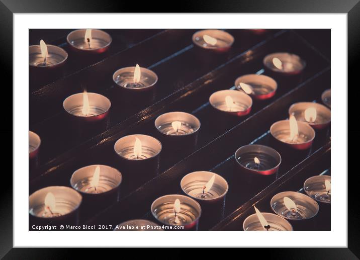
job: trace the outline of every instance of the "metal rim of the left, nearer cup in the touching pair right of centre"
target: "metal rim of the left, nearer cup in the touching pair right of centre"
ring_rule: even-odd
[[[220,100],[220,102],[224,102],[225,101],[225,97],[226,96],[231,96],[231,98],[234,100],[234,102],[239,102],[242,104],[245,104],[245,106],[247,106],[247,108],[243,111],[224,111],[221,109],[218,109],[215,104],[217,103],[218,100]],[[251,111],[251,107],[252,107],[252,99],[249,95],[247,95],[244,92],[241,91],[237,91],[237,90],[221,90],[221,91],[217,91],[214,92],[213,94],[211,94],[210,98],[209,98],[209,103],[210,105],[221,112],[230,114],[230,115],[234,115],[234,116],[246,116],[250,113]]]

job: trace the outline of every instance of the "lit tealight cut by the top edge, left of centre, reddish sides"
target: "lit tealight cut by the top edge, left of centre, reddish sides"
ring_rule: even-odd
[[[109,49],[112,42],[108,33],[96,29],[72,31],[66,40],[73,50],[84,53],[103,53]]]

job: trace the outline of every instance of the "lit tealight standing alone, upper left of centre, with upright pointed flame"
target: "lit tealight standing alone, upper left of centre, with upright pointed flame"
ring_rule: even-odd
[[[114,82],[123,90],[131,92],[148,91],[153,89],[157,82],[157,75],[150,69],[140,67],[125,67],[113,74]]]

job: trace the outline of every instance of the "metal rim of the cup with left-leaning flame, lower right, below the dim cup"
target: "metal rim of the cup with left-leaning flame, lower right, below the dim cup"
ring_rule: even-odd
[[[312,214],[309,217],[306,217],[304,219],[291,219],[291,218],[287,218],[286,216],[282,215],[281,212],[278,212],[274,207],[277,206],[276,203],[281,203],[284,204],[284,197],[289,197],[291,200],[293,200],[294,202],[296,201],[296,199],[299,199],[302,202],[305,202],[306,206],[312,207],[312,211],[314,214]],[[299,203],[295,203],[297,206],[299,205]],[[280,192],[276,195],[273,196],[273,198],[270,201],[270,207],[272,208],[272,210],[274,211],[274,213],[278,214],[279,216],[286,218],[286,219],[290,219],[290,220],[305,220],[305,219],[311,219],[313,217],[315,217],[317,215],[317,213],[319,212],[319,204],[311,197],[302,194],[300,192],[292,192],[292,191],[288,191],[288,192]]]

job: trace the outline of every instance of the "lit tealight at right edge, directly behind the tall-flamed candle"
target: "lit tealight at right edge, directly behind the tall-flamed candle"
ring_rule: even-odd
[[[297,121],[306,122],[315,129],[327,127],[331,120],[330,109],[313,102],[299,102],[291,105],[289,115],[294,115]]]

